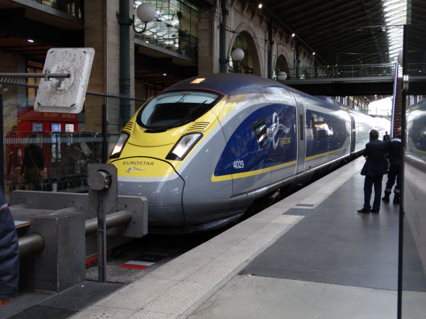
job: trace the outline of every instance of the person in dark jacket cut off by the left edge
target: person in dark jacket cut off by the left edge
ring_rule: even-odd
[[[0,307],[18,295],[19,250],[15,223],[0,188]]]

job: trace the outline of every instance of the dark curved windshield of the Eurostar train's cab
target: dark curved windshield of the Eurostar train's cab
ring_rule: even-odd
[[[152,130],[185,125],[207,113],[222,96],[204,91],[166,92],[149,101],[138,114],[138,124]]]

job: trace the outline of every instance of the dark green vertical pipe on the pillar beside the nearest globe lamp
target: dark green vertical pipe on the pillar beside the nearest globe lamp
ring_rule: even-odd
[[[130,96],[130,26],[133,24],[129,17],[129,0],[120,0],[120,95]],[[131,103],[128,99],[120,99],[121,125],[130,120]]]

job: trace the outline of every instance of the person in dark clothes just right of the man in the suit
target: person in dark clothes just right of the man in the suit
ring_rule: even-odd
[[[393,184],[396,186],[393,203],[399,204],[400,202],[400,167],[401,167],[401,128],[398,128],[398,136],[391,138],[386,142],[388,145],[388,159],[391,164],[389,165],[388,182],[386,183],[385,196],[382,198],[384,202],[389,203],[389,196],[392,193]]]

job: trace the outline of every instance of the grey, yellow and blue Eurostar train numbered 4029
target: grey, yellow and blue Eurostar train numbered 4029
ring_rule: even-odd
[[[153,233],[208,230],[256,198],[364,149],[372,118],[245,74],[186,79],[147,101],[109,157]]]

